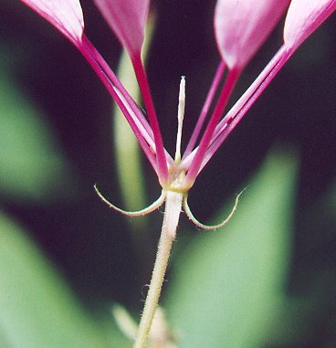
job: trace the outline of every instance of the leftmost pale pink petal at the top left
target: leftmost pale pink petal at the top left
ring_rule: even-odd
[[[21,1],[56,26],[72,43],[79,45],[84,30],[83,12],[79,0]]]

